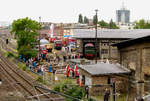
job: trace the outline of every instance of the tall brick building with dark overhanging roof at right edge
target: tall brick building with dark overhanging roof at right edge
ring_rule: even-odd
[[[132,71],[132,86],[136,88],[136,96],[150,93],[150,35],[131,39],[118,44],[119,62]]]

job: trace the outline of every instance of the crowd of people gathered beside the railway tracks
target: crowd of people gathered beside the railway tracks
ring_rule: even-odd
[[[25,59],[22,57],[22,55],[20,55],[19,61],[26,63],[26,67],[28,67],[32,72],[43,74],[43,72],[49,69],[50,65],[52,64],[56,64],[56,63],[59,64],[61,62],[65,63],[68,59],[79,59],[79,58],[82,58],[81,54],[69,54],[69,55],[67,54],[67,55],[63,55],[61,58],[60,55],[55,53],[55,56],[53,57],[49,57],[46,54],[41,54],[40,58],[39,56],[36,56],[36,57],[29,58],[29,59]],[[47,63],[39,65],[39,63],[42,61],[45,61]],[[53,72],[53,70],[51,72]]]

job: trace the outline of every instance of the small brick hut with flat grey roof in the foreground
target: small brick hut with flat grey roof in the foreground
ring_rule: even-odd
[[[118,64],[98,63],[90,65],[80,65],[80,80],[83,85],[88,85],[90,95],[103,95],[105,88],[110,88],[113,79],[116,81],[117,91],[127,91],[124,77],[130,71]],[[100,86],[102,85],[102,86]],[[104,86],[103,86],[104,85]]]

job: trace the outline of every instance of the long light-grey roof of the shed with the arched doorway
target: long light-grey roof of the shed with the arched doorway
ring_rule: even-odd
[[[150,35],[150,29],[101,29],[97,31],[97,38],[133,39]],[[95,38],[95,30],[73,29],[73,37],[77,39]]]

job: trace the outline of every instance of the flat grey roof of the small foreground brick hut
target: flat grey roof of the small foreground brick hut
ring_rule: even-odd
[[[120,66],[119,64],[98,63],[91,65],[79,65],[79,68],[93,76],[130,73],[130,70]]]

